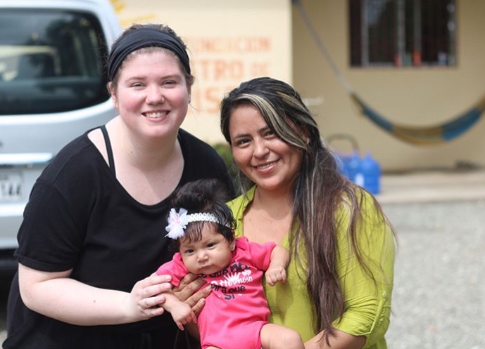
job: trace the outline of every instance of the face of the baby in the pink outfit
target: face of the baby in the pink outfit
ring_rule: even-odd
[[[179,251],[184,265],[190,272],[196,275],[210,275],[229,265],[235,244],[234,240],[227,241],[215,229],[214,224],[206,223],[202,228],[202,237],[198,241],[180,239]]]

